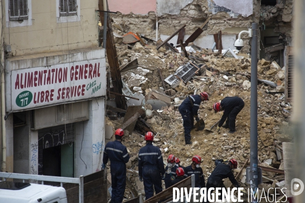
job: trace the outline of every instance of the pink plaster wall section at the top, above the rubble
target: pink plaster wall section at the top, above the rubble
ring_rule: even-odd
[[[156,12],[156,1],[153,0],[111,0],[108,1],[109,10],[123,14],[147,14]]]

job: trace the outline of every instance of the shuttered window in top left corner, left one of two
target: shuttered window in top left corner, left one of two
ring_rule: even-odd
[[[28,19],[27,0],[9,0],[10,20]]]

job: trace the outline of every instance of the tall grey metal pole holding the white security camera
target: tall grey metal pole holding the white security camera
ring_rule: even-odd
[[[258,194],[258,144],[257,144],[257,50],[258,50],[258,24],[252,23],[251,44],[251,109],[250,109],[250,187],[251,202],[257,203]],[[253,193],[252,193],[253,192]],[[254,195],[252,195],[254,194]]]

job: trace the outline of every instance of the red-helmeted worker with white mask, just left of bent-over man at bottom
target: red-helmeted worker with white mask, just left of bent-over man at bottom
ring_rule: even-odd
[[[195,175],[195,187],[205,187],[205,181],[203,176],[202,168],[200,164],[202,163],[202,159],[199,155],[195,155],[192,158],[192,164],[186,167],[186,174],[189,176]]]

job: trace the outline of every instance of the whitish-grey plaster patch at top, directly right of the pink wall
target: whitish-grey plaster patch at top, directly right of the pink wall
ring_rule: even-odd
[[[157,15],[178,15],[180,10],[193,3],[194,0],[157,0]]]

